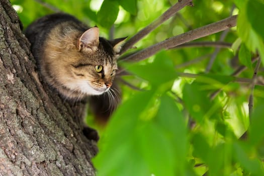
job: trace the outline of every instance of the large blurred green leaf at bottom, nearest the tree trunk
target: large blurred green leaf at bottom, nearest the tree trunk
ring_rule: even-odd
[[[131,170],[131,172],[125,175],[136,173],[142,175],[147,172],[142,161],[141,150],[136,148],[138,145],[137,128],[139,115],[146,108],[149,101],[153,100],[153,96],[155,94],[152,91],[136,94],[120,106],[111,118],[105,135],[99,141],[100,152],[93,161],[99,170],[98,175],[118,176],[124,175],[125,171],[128,172],[128,170]],[[124,160],[124,156],[129,156],[129,159]]]

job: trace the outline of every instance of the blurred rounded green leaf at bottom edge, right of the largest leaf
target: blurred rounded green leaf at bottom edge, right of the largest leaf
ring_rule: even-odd
[[[174,175],[173,147],[162,129],[154,123],[146,124],[139,132],[138,140],[142,159],[150,170],[149,175],[151,173],[157,176]]]

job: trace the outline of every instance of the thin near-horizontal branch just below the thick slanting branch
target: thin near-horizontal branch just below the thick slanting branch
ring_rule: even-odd
[[[217,47],[217,48],[231,48],[232,43],[228,42],[211,42],[211,41],[203,41],[203,42],[189,42],[189,43],[184,43],[169,49],[174,49],[174,48],[185,48],[185,47]]]

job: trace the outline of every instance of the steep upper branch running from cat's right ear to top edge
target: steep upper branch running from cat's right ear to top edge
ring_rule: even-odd
[[[190,5],[191,2],[192,0],[182,0],[182,1],[179,1],[177,4],[173,5],[166,12],[164,12],[160,17],[158,17],[155,21],[153,21],[151,24],[149,24],[144,29],[139,31],[136,35],[134,35],[132,38],[130,38],[122,47],[122,51],[120,52],[120,54],[124,53],[125,51],[133,47],[135,43],[137,43],[139,40],[141,40],[143,37],[145,37],[155,28],[157,28],[160,24],[168,20],[175,13],[183,9],[185,6]]]

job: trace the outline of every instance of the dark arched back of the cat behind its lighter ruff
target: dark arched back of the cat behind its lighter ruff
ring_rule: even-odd
[[[33,54],[34,52],[35,54],[38,53],[38,51],[35,50],[42,48],[48,34],[52,31],[52,29],[58,26],[61,26],[61,28],[70,26],[71,28],[79,31],[84,31],[88,28],[75,17],[68,14],[57,13],[44,16],[30,24],[25,30],[25,35],[33,46]]]

